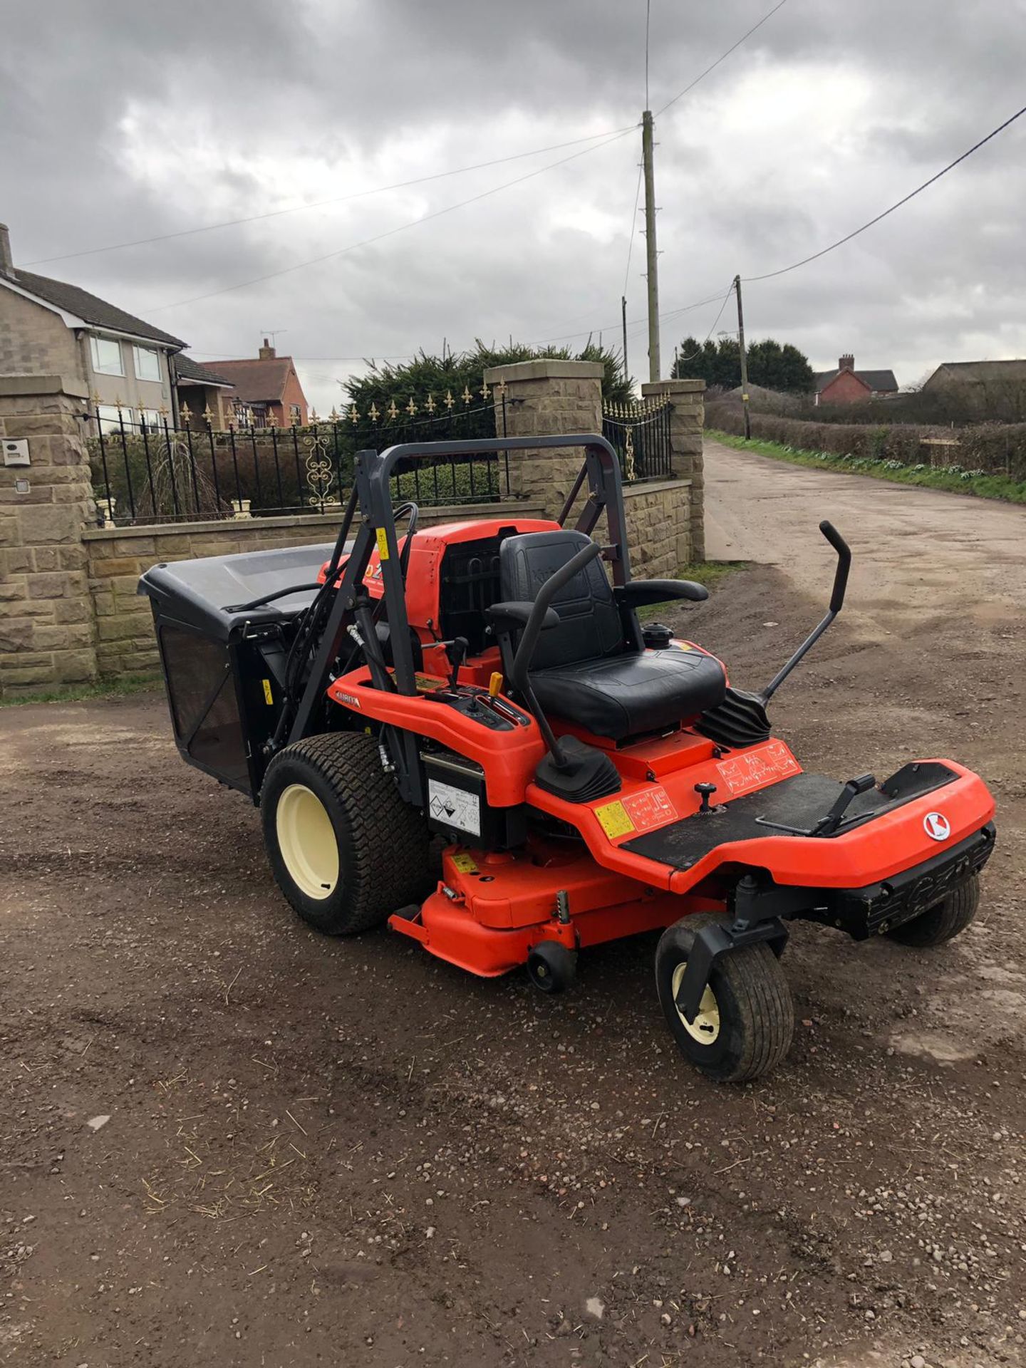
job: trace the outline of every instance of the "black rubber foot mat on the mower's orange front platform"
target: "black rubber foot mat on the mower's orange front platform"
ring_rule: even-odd
[[[851,800],[844,819],[833,834],[843,836],[892,807],[949,784],[955,774],[944,765],[906,765],[881,788],[871,788]],[[655,832],[624,841],[621,850],[646,859],[689,869],[703,855],[728,841],[752,841],[762,836],[788,836],[807,832],[825,817],[844,784],[825,774],[795,774],[772,788],[748,793],[726,803],[709,817],[684,817]],[[769,825],[774,824],[774,825]],[[781,830],[781,828],[784,828]],[[819,837],[829,840],[829,836]]]

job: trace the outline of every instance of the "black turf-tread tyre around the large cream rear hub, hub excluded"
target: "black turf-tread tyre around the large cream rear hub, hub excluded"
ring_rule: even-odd
[[[339,880],[326,899],[297,888],[280,854],[275,804],[291,782],[317,793],[335,830]],[[260,808],[278,886],[305,922],[328,936],[379,926],[399,907],[421,902],[432,882],[427,824],[382,769],[373,736],[327,732],[286,746],[267,767]]]

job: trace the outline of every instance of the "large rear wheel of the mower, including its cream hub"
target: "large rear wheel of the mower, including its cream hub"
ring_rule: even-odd
[[[279,751],[260,814],[278,886],[327,936],[378,926],[427,892],[427,825],[382,769],[373,736],[331,732]]]

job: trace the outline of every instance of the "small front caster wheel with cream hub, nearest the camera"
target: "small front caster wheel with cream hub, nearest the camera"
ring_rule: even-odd
[[[715,960],[694,1022],[679,1011],[674,999],[695,936],[721,921],[711,912],[696,912],[668,926],[655,949],[655,986],[681,1053],[707,1078],[743,1083],[784,1059],[795,1030],[795,1010],[780,960],[761,944]]]

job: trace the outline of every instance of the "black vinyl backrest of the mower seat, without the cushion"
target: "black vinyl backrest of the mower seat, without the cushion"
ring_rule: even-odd
[[[499,547],[501,598],[534,603],[546,580],[590,542],[583,532],[566,528],[508,536]],[[598,558],[560,590],[553,607],[560,614],[560,627],[542,632],[531,669],[576,665],[624,651],[620,610]]]

